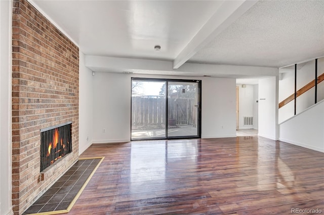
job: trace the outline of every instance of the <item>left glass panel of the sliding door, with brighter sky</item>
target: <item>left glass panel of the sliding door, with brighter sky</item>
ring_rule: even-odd
[[[166,81],[132,80],[131,139],[165,139]]]

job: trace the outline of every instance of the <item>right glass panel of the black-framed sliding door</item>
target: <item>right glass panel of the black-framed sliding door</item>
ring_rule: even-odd
[[[199,82],[168,82],[168,137],[199,137]]]

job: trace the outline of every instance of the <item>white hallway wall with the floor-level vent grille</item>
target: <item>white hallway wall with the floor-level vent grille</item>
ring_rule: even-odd
[[[246,87],[242,87],[241,84],[236,86],[238,86],[238,129],[252,129],[253,126],[244,125],[244,117],[254,118],[254,87],[251,84],[245,84]]]

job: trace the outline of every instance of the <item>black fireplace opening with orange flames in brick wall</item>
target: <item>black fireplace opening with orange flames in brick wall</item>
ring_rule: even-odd
[[[72,151],[72,122],[41,130],[41,172]]]

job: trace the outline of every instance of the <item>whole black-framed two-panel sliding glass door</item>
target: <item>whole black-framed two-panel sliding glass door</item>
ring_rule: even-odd
[[[200,137],[200,81],[132,78],[131,139]]]

